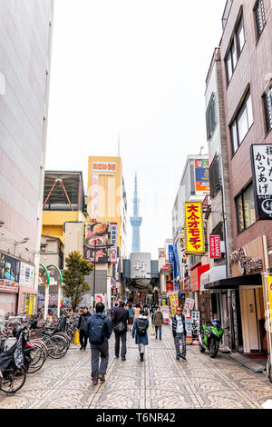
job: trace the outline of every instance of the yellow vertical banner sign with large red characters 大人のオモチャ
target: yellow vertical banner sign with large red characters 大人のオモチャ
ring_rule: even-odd
[[[205,253],[205,233],[202,202],[184,203],[185,253]]]

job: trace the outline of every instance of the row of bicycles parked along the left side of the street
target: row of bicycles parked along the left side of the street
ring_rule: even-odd
[[[0,331],[0,390],[18,392],[27,374],[38,372],[46,359],[61,359],[73,342],[75,327],[66,316],[48,324],[38,319],[26,323],[7,323]],[[11,335],[15,343],[8,348]]]

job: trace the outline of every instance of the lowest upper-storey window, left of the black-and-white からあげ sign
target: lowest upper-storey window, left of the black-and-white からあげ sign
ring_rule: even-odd
[[[238,216],[238,233],[246,230],[256,222],[255,203],[253,185],[250,184],[246,190],[236,198],[236,208]]]

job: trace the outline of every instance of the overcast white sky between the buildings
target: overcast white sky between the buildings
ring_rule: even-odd
[[[205,79],[226,0],[55,0],[46,168],[117,155],[141,251],[158,258],[188,154],[206,144]],[[207,150],[206,150],[207,151]],[[129,249],[131,225],[129,223]]]

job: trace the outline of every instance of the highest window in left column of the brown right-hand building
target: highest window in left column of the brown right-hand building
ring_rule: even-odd
[[[227,79],[228,83],[232,77],[232,74],[235,70],[235,67],[238,63],[238,58],[241,55],[242,49],[245,45],[245,30],[244,30],[244,21],[243,16],[238,20],[238,25],[236,25],[234,35],[229,44],[228,54],[226,55],[225,62],[227,68]]]

